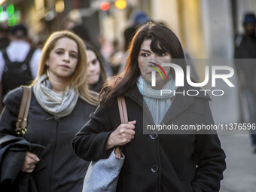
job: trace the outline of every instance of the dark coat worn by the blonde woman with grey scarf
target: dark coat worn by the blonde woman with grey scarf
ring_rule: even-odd
[[[6,107],[0,120],[2,136],[17,136],[15,123],[22,96],[23,88],[18,88],[5,99]],[[25,139],[45,147],[40,158],[44,160],[46,167],[34,174],[39,192],[81,192],[88,162],[75,156],[71,142],[95,109],[96,107],[78,99],[72,114],[67,117],[55,117],[41,108],[32,93]]]

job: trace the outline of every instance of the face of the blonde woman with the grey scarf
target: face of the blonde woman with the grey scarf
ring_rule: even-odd
[[[59,38],[47,59],[49,79],[69,79],[78,65],[78,44],[71,38]]]

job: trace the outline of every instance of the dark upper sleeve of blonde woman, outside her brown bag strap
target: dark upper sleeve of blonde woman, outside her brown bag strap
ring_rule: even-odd
[[[5,96],[4,104],[5,108],[2,111],[0,117],[0,136],[13,135],[15,133],[16,122],[20,110],[20,102],[23,96],[23,88],[19,87],[12,90]]]

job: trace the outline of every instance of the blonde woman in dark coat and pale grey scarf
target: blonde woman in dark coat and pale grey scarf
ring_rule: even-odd
[[[69,31],[53,32],[42,49],[24,138],[44,146],[44,150],[41,154],[25,152],[24,163],[15,167],[33,176],[31,181],[35,181],[38,192],[80,192],[83,187],[89,163],[75,156],[71,141],[98,105],[88,87],[85,50],[84,41]],[[22,96],[23,88],[19,87],[5,98],[0,120],[2,138],[17,136],[15,122]],[[9,187],[8,191],[17,191]]]

